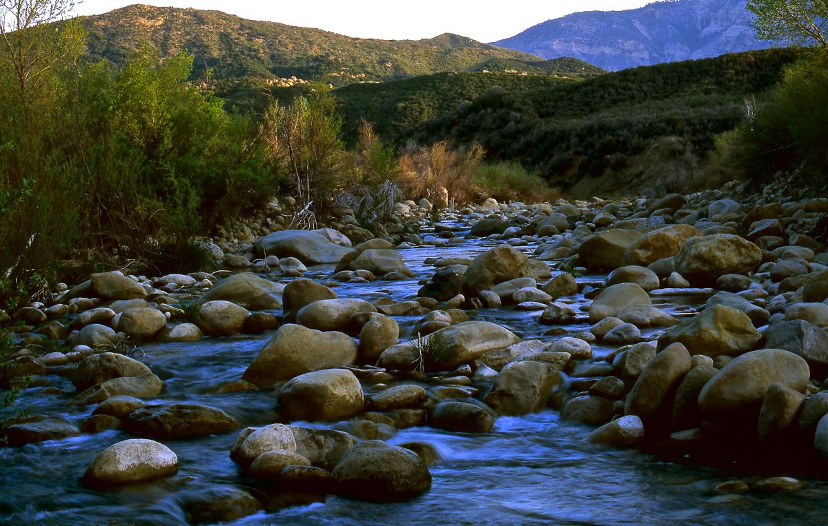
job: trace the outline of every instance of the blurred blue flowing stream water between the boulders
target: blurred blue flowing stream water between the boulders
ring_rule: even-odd
[[[402,251],[417,278],[429,276],[428,257],[474,256],[487,241],[465,241],[443,248]],[[524,247],[531,251],[534,246]],[[332,266],[310,269],[324,279]],[[279,280],[278,276],[270,276]],[[603,276],[580,280],[597,281]],[[411,299],[416,280],[344,284],[340,298]],[[700,299],[659,297],[655,303],[671,313],[686,313]],[[501,323],[521,337],[543,336],[548,326],[539,313],[508,308],[479,311],[477,319]],[[415,317],[398,317],[410,327]],[[571,332],[586,323],[566,326]],[[407,335],[403,335],[403,338]],[[190,401],[224,409],[243,426],[275,421],[275,399],[267,391],[216,394],[238,380],[257,356],[267,334],[207,338],[193,343],[159,343],[142,347],[140,357],[165,380],[157,401]],[[595,346],[596,360],[609,347]],[[12,410],[57,414],[80,420],[94,406],[68,407],[74,386],[50,375],[65,394],[22,392]],[[0,415],[7,416],[7,415]],[[80,477],[95,455],[114,442],[131,438],[123,431],[83,435],[61,441],[0,449],[0,523],[2,524],[185,524],[181,500],[198,490],[236,486],[281,503],[238,524],[822,524],[828,485],[816,478],[788,493],[718,495],[710,486],[734,476],[782,473],[744,471],[739,466],[704,467],[676,463],[635,450],[619,451],[585,440],[590,428],[567,423],[551,409],[523,417],[498,418],[493,433],[450,433],[409,428],[388,442],[430,442],[440,453],[431,466],[434,483],[426,495],[399,504],[369,504],[329,496],[310,502],[286,496],[274,499],[266,486],[238,474],[229,451],[238,433],[166,442],[179,457],[176,476],[113,490],[90,490]],[[678,459],[681,460],[681,459]],[[758,459],[761,465],[761,459]]]

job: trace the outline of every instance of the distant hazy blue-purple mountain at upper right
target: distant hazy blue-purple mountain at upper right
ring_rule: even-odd
[[[618,70],[769,47],[745,0],[669,0],[616,12],[579,12],[494,42],[545,59],[575,57]]]

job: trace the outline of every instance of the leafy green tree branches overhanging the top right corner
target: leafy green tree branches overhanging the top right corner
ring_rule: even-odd
[[[828,50],[828,0],[748,0],[759,38]]]

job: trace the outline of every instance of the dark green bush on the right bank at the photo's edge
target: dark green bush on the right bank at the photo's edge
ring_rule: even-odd
[[[801,170],[804,183],[828,177],[828,53],[792,65],[764,103],[719,141],[727,170],[767,181],[777,170]]]

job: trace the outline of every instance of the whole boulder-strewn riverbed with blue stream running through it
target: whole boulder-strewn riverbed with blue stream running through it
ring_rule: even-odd
[[[0,520],[819,520],[828,200],[782,195],[399,203],[90,276],[10,313]]]

